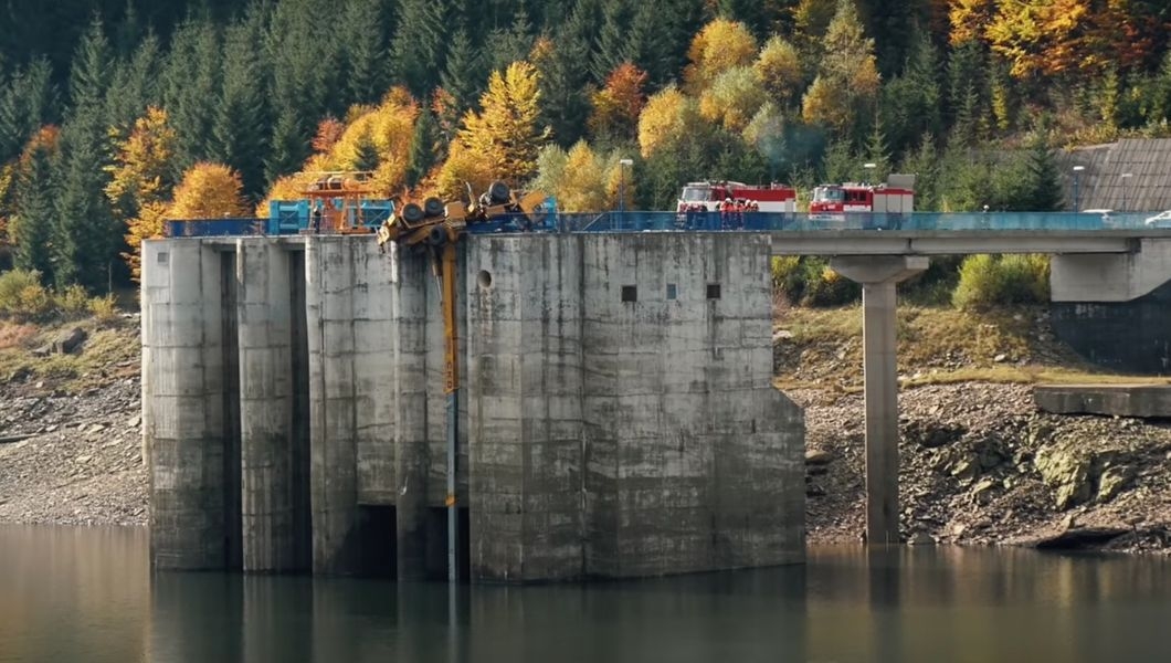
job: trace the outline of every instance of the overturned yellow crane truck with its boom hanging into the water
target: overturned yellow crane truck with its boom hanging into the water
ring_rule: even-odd
[[[516,196],[508,185],[494,182],[477,199],[467,185],[466,200],[444,203],[426,198],[422,205],[408,203],[378,228],[378,248],[390,242],[415,247],[431,255],[432,272],[439,279],[439,303],[444,324],[444,394],[447,395],[447,580],[459,581],[459,512],[456,497],[456,463],[459,458],[459,339],[456,320],[457,246],[468,226],[513,218],[522,230],[530,228],[546,196],[539,191]]]

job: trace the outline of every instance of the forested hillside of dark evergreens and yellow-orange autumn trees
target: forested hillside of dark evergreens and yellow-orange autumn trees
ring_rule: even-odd
[[[502,178],[567,210],[697,178],[915,172],[919,209],[1061,209],[1053,151],[1171,134],[1162,0],[9,0],[0,268],[125,281],[164,218],[294,173]],[[618,160],[634,159],[619,173]]]

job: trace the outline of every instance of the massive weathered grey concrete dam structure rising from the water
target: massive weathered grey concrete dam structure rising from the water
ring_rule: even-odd
[[[804,559],[804,422],[772,381],[763,233],[473,235],[458,540],[480,582]],[[443,577],[429,258],[369,235],[149,240],[160,569]]]

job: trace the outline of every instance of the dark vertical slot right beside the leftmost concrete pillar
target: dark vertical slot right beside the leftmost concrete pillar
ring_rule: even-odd
[[[240,350],[235,253],[220,254],[220,333],[224,348],[224,567],[244,568],[240,465]]]

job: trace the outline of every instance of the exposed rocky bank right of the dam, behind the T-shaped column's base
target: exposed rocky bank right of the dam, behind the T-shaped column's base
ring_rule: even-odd
[[[806,406],[813,542],[865,522],[862,396]],[[960,383],[899,395],[899,504],[910,542],[1171,551],[1171,422],[1038,411],[1032,388]]]

